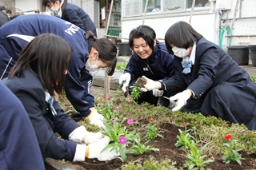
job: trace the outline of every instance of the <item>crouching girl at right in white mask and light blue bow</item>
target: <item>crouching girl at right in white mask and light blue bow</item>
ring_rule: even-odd
[[[256,85],[221,47],[203,38],[190,24],[176,22],[165,36],[178,71],[162,83],[147,79],[145,91],[178,91],[172,111],[202,113],[256,130]]]

